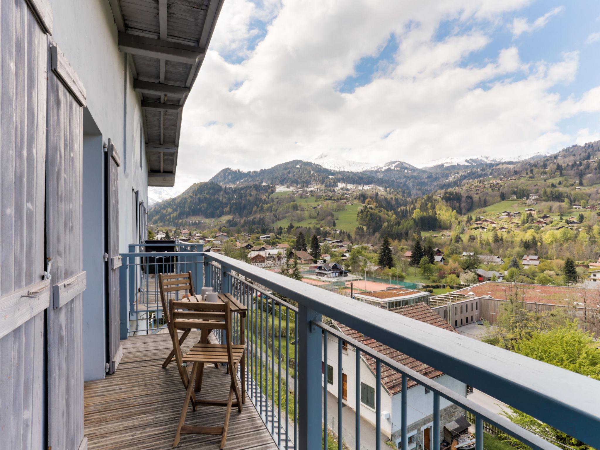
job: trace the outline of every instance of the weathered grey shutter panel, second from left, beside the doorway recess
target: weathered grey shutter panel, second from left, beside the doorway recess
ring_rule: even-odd
[[[48,446],[77,450],[83,437],[83,109],[85,91],[49,43],[46,154],[46,254],[53,259],[52,306],[47,310]],[[58,58],[58,59],[57,59]],[[73,90],[79,90],[76,97]],[[68,281],[71,280],[71,281]],[[73,281],[74,280],[74,281]],[[67,286],[68,283],[70,286]],[[80,286],[80,284],[77,284]],[[84,286],[85,287],[85,283]],[[62,298],[55,299],[56,295]]]

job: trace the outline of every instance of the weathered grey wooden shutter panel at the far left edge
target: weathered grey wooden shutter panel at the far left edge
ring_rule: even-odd
[[[25,0],[0,2],[0,42],[0,448],[38,450],[50,301],[42,281],[47,52]]]

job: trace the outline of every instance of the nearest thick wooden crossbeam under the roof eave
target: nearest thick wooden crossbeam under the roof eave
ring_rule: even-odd
[[[196,64],[205,55],[201,47],[119,32],[119,50],[132,55]]]

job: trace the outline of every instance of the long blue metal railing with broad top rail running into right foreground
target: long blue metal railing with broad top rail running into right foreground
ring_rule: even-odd
[[[266,372],[271,368],[272,380],[280,383],[281,378],[274,377],[274,361],[281,361],[281,346],[277,351],[274,347],[275,338],[281,332],[277,330],[277,335],[272,335],[275,331],[274,321],[278,320],[277,305],[280,296],[289,299],[289,304],[298,304],[293,310],[295,313],[295,358],[294,370],[294,398],[298,402],[293,404],[296,421],[293,439],[295,448],[302,450],[327,448],[327,433],[321,432],[327,428],[326,423],[326,397],[328,388],[325,366],[325,377],[321,377],[319,366],[326,361],[324,353],[327,352],[323,347],[324,336],[331,336],[338,340],[338,379],[341,379],[341,352],[343,348],[351,347],[356,352],[356,371],[359,373],[362,356],[373,358],[376,362],[376,439],[374,448],[381,448],[381,428],[382,428],[382,388],[381,371],[382,365],[391,368],[402,375],[401,377],[401,415],[400,415],[400,436],[407,436],[407,410],[409,380],[418,385],[425,386],[434,393],[433,395],[433,436],[439,436],[440,432],[440,400],[445,399],[451,404],[455,404],[464,410],[473,413],[476,417],[476,448],[482,448],[483,433],[482,424],[484,420],[505,431],[520,442],[535,449],[556,449],[552,443],[542,439],[536,434],[521,428],[520,426],[508,421],[508,419],[497,415],[490,410],[470,401],[464,394],[458,394],[452,389],[443,386],[436,380],[413,371],[411,368],[399,364],[393,359],[376,352],[370,347],[365,346],[359,341],[353,340],[332,326],[329,326],[322,319],[323,316],[334,319],[337,322],[350,326],[352,329],[360,331],[383,344],[398,349],[406,355],[412,356],[418,361],[431,365],[431,367],[442,371],[455,380],[475,386],[479,390],[496,398],[503,403],[511,404],[523,412],[529,413],[536,418],[544,421],[571,436],[577,437],[589,445],[598,445],[600,442],[600,404],[590,400],[590,394],[593,392],[594,398],[600,398],[600,383],[596,380],[580,376],[578,374],[557,368],[530,358],[490,346],[485,343],[464,337],[456,333],[448,332],[431,325],[408,319],[407,317],[394,314],[389,311],[374,308],[362,302],[348,299],[344,296],[332,292],[321,290],[318,287],[310,286],[300,281],[292,280],[282,275],[273,274],[260,268],[248,265],[238,260],[223,256],[221,254],[205,254],[205,261],[219,264],[223,272],[223,282],[225,285],[235,286],[241,283],[243,286],[250,286],[254,289],[250,296],[251,304],[254,307],[249,308],[248,317],[254,321],[255,326],[260,326],[254,330],[258,341],[247,342],[249,354],[253,355],[254,372],[251,372],[251,379],[258,379],[258,386],[265,386],[265,398],[269,400],[271,392],[271,410],[274,411],[278,402],[272,395],[273,389],[269,389],[269,381]],[[226,286],[224,290],[232,289]],[[262,286],[262,287],[256,287]],[[243,289],[233,289],[229,292],[242,292]],[[256,292],[268,293],[266,304],[260,301],[257,305],[258,297]],[[277,293],[277,294],[275,294]],[[287,304],[287,302],[286,302]],[[266,306],[265,306],[266,305]],[[272,306],[274,305],[274,306]],[[271,309],[272,308],[272,309]],[[265,311],[266,310],[266,311]],[[291,310],[291,307],[289,308]],[[260,311],[260,314],[257,313]],[[285,308],[283,308],[285,311]],[[260,316],[260,317],[259,317]],[[271,325],[269,325],[271,322]],[[269,326],[271,326],[271,342],[267,339],[267,344],[271,345],[271,353],[262,351],[265,341],[263,338],[269,336]],[[265,332],[266,331],[266,332]],[[289,331],[289,330],[287,330]],[[264,334],[264,336],[263,336]],[[345,344],[344,344],[345,343]],[[260,355],[257,355],[257,349],[261,349]],[[286,347],[287,350],[287,347]],[[252,353],[254,352],[254,353]],[[262,359],[265,356],[265,359]],[[289,356],[289,355],[287,355]],[[287,357],[286,359],[287,363]],[[263,367],[265,371],[263,371]],[[280,367],[277,365],[277,367]],[[265,379],[266,377],[266,379]],[[266,384],[265,384],[266,381]],[[323,389],[317,388],[323,383]],[[341,385],[341,383],[338,383]],[[286,388],[291,386],[286,385]],[[356,398],[360,398],[360,377],[356,377]],[[264,394],[263,394],[264,395]],[[341,417],[342,393],[338,386],[337,395],[338,417]],[[274,424],[283,424],[281,421],[275,421],[273,412],[271,415],[265,415],[265,405],[263,400],[256,400],[257,407],[260,407],[263,421],[269,428],[269,431],[275,431],[274,437],[277,437],[277,429],[274,430]],[[360,449],[363,446],[361,442],[361,402],[356,401],[355,410],[355,439],[352,443],[354,448]],[[286,409],[287,410],[287,409]],[[332,430],[338,435],[338,448],[342,448],[341,436],[343,420],[338,420],[338,430]],[[347,425],[347,423],[344,423]],[[278,442],[275,439],[275,442]],[[278,442],[279,443],[279,442]],[[349,444],[349,443],[346,443]],[[407,439],[401,439],[401,448],[407,449]],[[436,448],[434,446],[434,448]]]

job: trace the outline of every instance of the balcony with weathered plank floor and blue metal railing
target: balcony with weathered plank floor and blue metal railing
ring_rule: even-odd
[[[121,310],[122,320],[129,325],[122,336],[127,339],[122,341],[121,364],[112,376],[85,385],[85,433],[91,449],[122,448],[124,443],[128,448],[170,448],[181,412],[184,389],[176,368],[161,368],[172,347],[151,274],[160,263],[142,262],[145,254],[136,253],[134,247],[131,250],[122,254],[121,280],[126,281],[121,286]],[[476,450],[483,449],[484,424],[485,430],[499,429],[531,448],[557,448],[469,400],[466,390],[457,389],[457,385],[472,386],[590,446],[600,447],[597,380],[221,254],[202,253],[200,246],[181,246],[179,250],[163,254],[172,257],[170,271],[191,271],[198,291],[200,286],[213,287],[248,308],[245,322],[235,323],[232,338],[242,343],[244,325],[250,401],[241,415],[232,413],[226,448],[317,449],[323,440],[341,436],[350,449],[379,450],[385,440],[392,440],[402,450],[410,450],[418,448],[416,439],[421,448],[437,450],[436,436],[439,442],[446,423],[444,412],[452,405],[460,415],[473,418]],[[149,264],[156,265],[154,271],[149,270]],[[330,319],[388,350],[380,353],[367,341],[355,339],[354,334],[344,334],[340,327],[331,326]],[[193,343],[194,338],[197,341],[193,336],[187,343]],[[329,344],[323,346],[323,342]],[[414,359],[394,358],[398,352]],[[414,360],[456,383],[424,374]],[[340,364],[330,371],[325,370],[323,361]],[[364,361],[371,365],[361,366]],[[345,380],[346,373],[354,376],[354,381],[337,382]],[[372,403],[366,399],[371,394],[362,386],[367,375],[375,380]],[[215,392],[227,391],[224,368],[212,368],[206,376],[214,380],[211,389]],[[395,383],[394,389],[390,390],[389,383]],[[425,406],[412,403],[412,393],[418,389],[430,394],[423,397],[428,402]],[[361,401],[352,403],[358,398]],[[388,398],[392,404],[386,410]],[[426,425],[419,425],[417,433],[412,416],[419,409],[421,422]],[[207,425],[220,421],[220,415],[224,415],[222,410],[200,407],[197,412],[190,409],[187,420]],[[340,417],[343,419],[337,420]],[[325,423],[329,434],[322,433]],[[428,442],[419,441],[419,436],[425,439],[425,427],[430,430]],[[187,435],[179,446],[218,448],[218,443],[217,437]],[[341,448],[339,440],[335,445]]]

